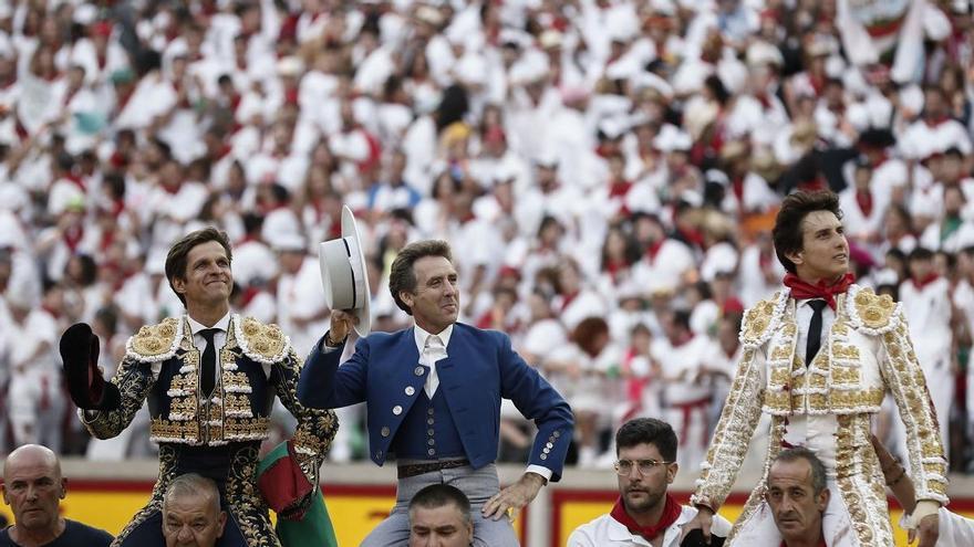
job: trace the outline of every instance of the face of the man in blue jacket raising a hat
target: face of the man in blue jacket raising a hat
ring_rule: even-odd
[[[423,256],[413,263],[413,274],[416,290],[402,291],[400,298],[410,306],[416,325],[427,333],[439,334],[456,323],[459,314],[456,269],[444,256]]]

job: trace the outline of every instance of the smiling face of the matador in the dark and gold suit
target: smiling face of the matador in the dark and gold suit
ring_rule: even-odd
[[[188,306],[227,304],[234,287],[230,259],[219,242],[207,241],[189,250],[186,272],[173,278],[173,288]],[[229,304],[227,304],[229,305]]]

